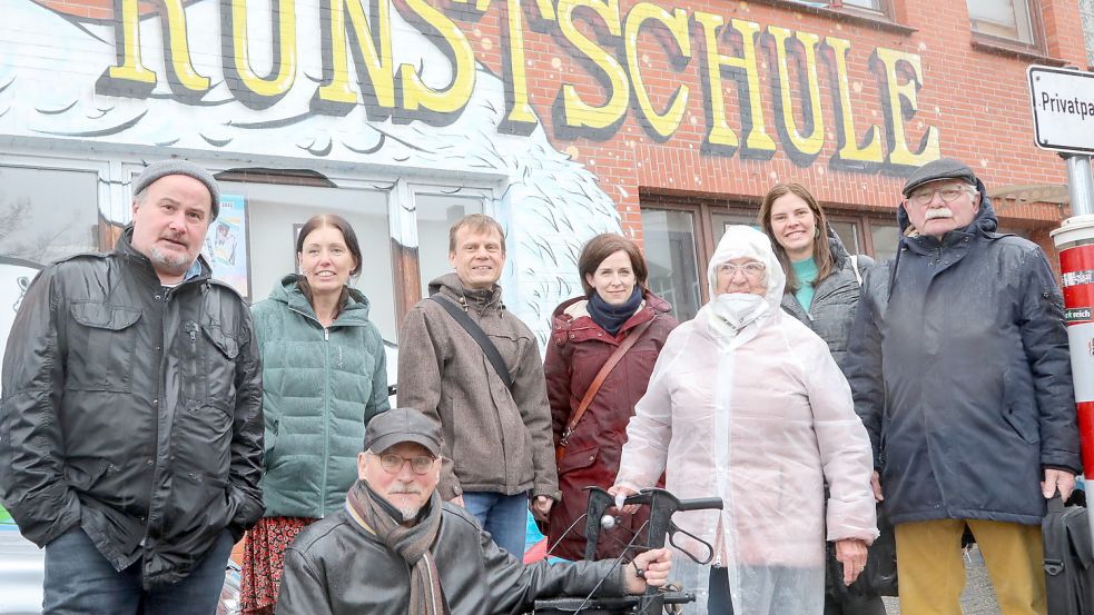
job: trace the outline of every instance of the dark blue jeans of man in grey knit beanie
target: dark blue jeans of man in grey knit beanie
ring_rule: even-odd
[[[216,613],[224,571],[231,554],[225,529],[183,581],[145,591],[140,562],[120,573],[75,527],[46,545],[45,615],[210,615]]]

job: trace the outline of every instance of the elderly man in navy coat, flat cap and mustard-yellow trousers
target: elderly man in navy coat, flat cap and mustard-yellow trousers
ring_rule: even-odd
[[[1081,469],[1063,300],[1044,252],[996,232],[967,166],[929,162],[904,196],[905,237],[866,277],[847,367],[901,612],[960,613],[968,526],[1003,614],[1043,615],[1045,498]]]

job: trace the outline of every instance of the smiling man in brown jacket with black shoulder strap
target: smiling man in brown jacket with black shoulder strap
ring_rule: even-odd
[[[434,298],[403,320],[398,403],[441,421],[441,496],[467,508],[499,546],[520,557],[529,495],[543,518],[560,497],[539,345],[502,304],[505,235],[496,220],[473,214],[453,225],[449,262],[455,272],[430,282]],[[482,328],[512,388],[438,301],[459,306]]]

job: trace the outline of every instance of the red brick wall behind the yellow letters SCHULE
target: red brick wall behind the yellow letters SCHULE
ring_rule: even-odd
[[[524,17],[535,18],[534,2]],[[726,21],[739,19],[758,23],[761,32],[769,27],[837,37],[850,41],[847,54],[847,77],[850,82],[856,128],[864,135],[876,125],[883,142],[888,138],[884,121],[885,89],[878,70],[871,65],[876,49],[884,48],[917,54],[921,62],[921,88],[918,90],[918,111],[907,121],[907,141],[914,149],[927,127],[938,132],[942,156],[968,162],[989,187],[1014,185],[1063,183],[1064,165],[1052,152],[1033,145],[1033,128],[1026,86],[1026,67],[1031,63],[1055,62],[1083,65],[1086,48],[1080,28],[1080,9],[1071,0],[1041,0],[1041,20],[1045,33],[1043,53],[1019,54],[974,44],[967,10],[957,0],[893,0],[896,6],[896,27],[870,20],[850,20],[834,11],[795,7],[785,0],[727,2],[694,0],[672,3],[657,0],[671,11],[687,11],[690,21],[691,58],[673,67],[670,53],[651,33],[652,28],[638,37],[641,76],[656,109],[664,109],[681,86],[690,89],[687,111],[679,127],[668,139],[656,141],[637,119],[633,95],[630,109],[618,129],[607,136],[565,136],[555,131],[552,117],[541,113],[548,133],[560,150],[595,172],[605,191],[617,200],[624,228],[640,235],[640,194],[671,191],[677,195],[717,195],[755,200],[776,181],[795,180],[810,187],[818,198],[845,209],[890,211],[907,169],[874,169],[869,172],[840,170],[830,165],[838,149],[838,118],[832,102],[835,88],[828,77],[830,53],[817,60],[820,78],[825,142],[819,155],[808,163],[795,161],[786,153],[777,130],[772,79],[776,73],[773,46],[761,38],[758,43],[759,93],[768,133],[778,145],[769,160],[749,160],[740,153],[710,155],[702,151],[707,118],[702,105],[703,86],[700,39],[694,23],[697,12],[720,16]],[[1084,10],[1092,0],[1083,0]],[[554,3],[559,6],[558,2]],[[622,0],[619,13],[630,13],[635,2]],[[583,11],[583,12],[581,12]],[[590,10],[575,12],[579,31],[595,38],[590,23],[604,21]],[[476,47],[476,56],[491,70],[504,69],[504,44],[500,39],[501,11],[487,10],[467,28]],[[534,19],[530,21],[534,22]],[[560,46],[556,23],[543,32],[525,29],[525,62],[529,95],[533,107],[550,109],[559,96],[560,83],[573,83],[589,103],[602,103],[604,89],[591,77],[580,53]],[[621,48],[621,38],[607,37],[602,48]],[[732,54],[731,44],[722,43],[721,52]],[[619,51],[619,54],[622,54]],[[1041,57],[1038,57],[1041,56]],[[595,72],[595,70],[593,70]],[[797,71],[791,67],[792,83]],[[907,78],[905,73],[904,78]],[[633,82],[632,82],[633,85]],[[730,127],[740,135],[738,87],[733,80],[725,85],[726,111]],[[794,87],[792,100],[801,122],[804,92]],[[1003,204],[1001,216],[1016,227],[1025,227],[1034,238],[1048,246],[1046,231],[1061,219],[1055,206]]]

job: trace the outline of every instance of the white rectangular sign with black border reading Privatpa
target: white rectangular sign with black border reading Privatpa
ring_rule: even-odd
[[[1037,147],[1094,153],[1094,72],[1038,66],[1026,72]]]

